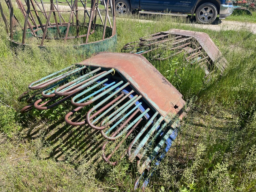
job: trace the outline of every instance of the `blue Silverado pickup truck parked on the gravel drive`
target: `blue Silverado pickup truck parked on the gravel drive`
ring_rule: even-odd
[[[172,12],[196,14],[196,20],[202,24],[212,23],[218,14],[225,19],[232,14],[232,0],[115,0],[115,9],[119,14],[137,10],[149,12]]]

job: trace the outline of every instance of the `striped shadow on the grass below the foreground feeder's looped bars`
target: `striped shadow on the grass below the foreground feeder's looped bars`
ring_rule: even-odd
[[[82,121],[85,117],[74,118]],[[103,137],[100,132],[85,125],[71,126],[63,121],[45,124],[36,123],[23,134],[28,140],[41,140],[43,153],[41,158],[53,158],[55,161],[67,161],[79,164],[81,161],[97,164],[101,160]]]

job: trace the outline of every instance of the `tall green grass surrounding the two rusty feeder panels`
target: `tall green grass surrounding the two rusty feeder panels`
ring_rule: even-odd
[[[256,36],[246,29],[216,32],[188,27],[187,22],[159,16],[117,18],[117,50],[139,37],[180,28],[206,32],[228,61],[223,76],[204,84],[200,68],[180,56],[161,63],[150,60],[191,102],[191,110],[146,191],[255,191]],[[52,109],[54,117],[19,113],[25,103],[17,98],[30,82],[81,60],[68,46],[11,47],[0,22],[2,191],[133,191],[133,165],[125,159],[116,167],[92,164],[88,159],[94,148],[87,144],[97,134],[88,136],[86,127],[62,124],[63,109]]]

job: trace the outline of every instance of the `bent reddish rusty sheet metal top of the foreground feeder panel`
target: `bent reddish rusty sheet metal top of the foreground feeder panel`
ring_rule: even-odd
[[[181,93],[141,55],[100,52],[80,64],[118,70],[165,118],[178,114],[185,105]]]

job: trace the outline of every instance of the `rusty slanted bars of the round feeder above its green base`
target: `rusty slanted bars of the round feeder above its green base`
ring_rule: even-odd
[[[4,14],[3,5],[0,2],[1,16],[4,20],[7,33],[10,32],[12,42],[17,41],[15,36],[22,34],[20,44],[25,44],[27,38],[36,37],[41,39],[40,46],[44,45],[46,39],[68,39],[84,38],[83,43],[89,43],[89,36],[95,31],[102,31],[101,40],[115,36],[116,18],[113,11],[114,0],[103,1],[104,9],[99,9],[99,0],[4,0],[8,10]],[[15,3],[14,3],[15,2]],[[89,5],[89,6],[88,6]],[[18,6],[24,20],[18,20],[13,9]],[[109,16],[109,9],[112,18]],[[97,19],[99,23],[97,24]],[[97,25],[102,28],[97,28]],[[108,26],[109,25],[109,26]],[[111,32],[107,34],[108,28]],[[20,30],[21,29],[21,32]]]

